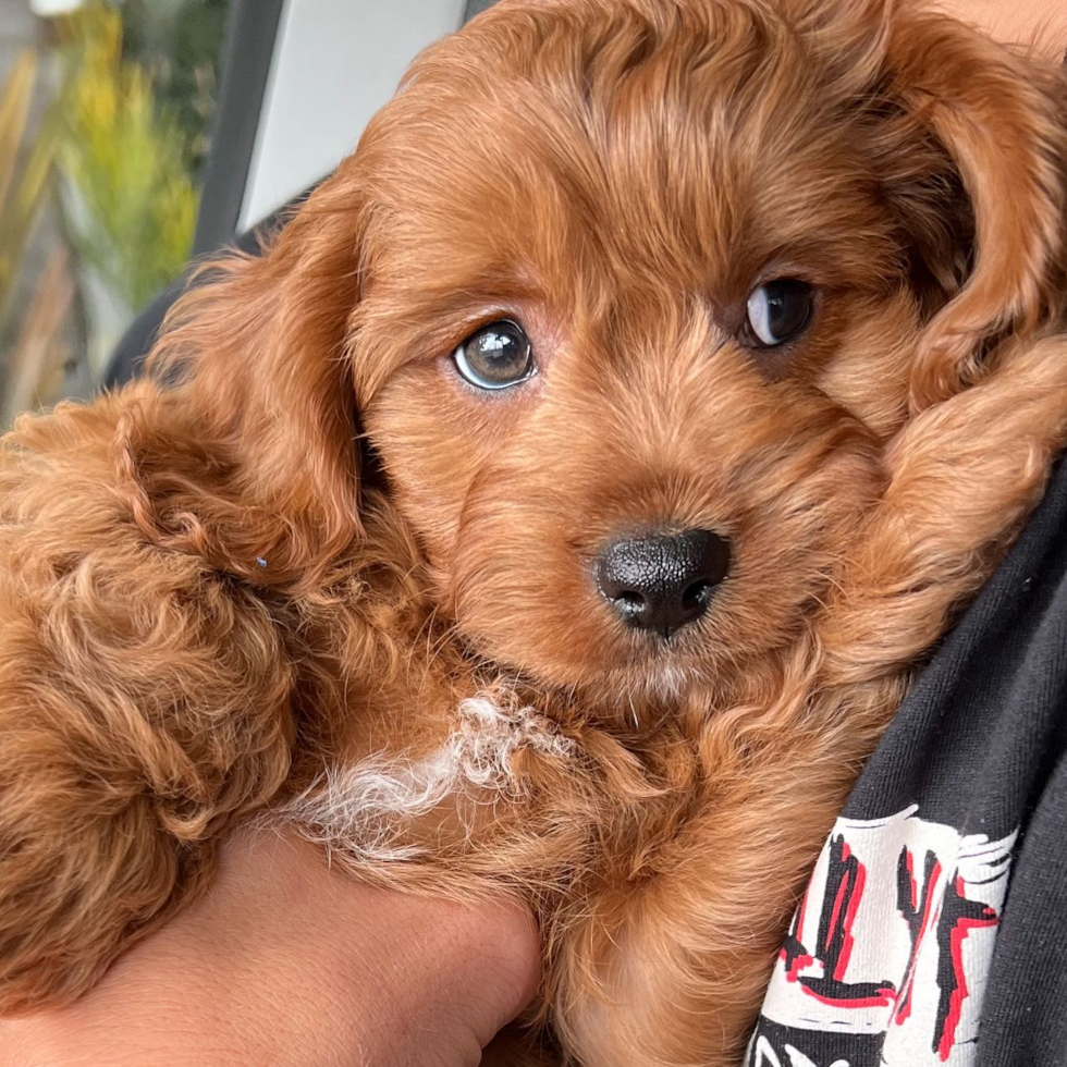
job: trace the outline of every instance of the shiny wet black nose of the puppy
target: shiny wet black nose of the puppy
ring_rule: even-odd
[[[699,618],[729,565],[729,543],[711,530],[615,541],[597,560],[597,584],[630,626],[670,637]]]

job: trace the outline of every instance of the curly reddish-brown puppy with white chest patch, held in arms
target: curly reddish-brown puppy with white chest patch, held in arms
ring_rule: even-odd
[[[908,0],[503,0],[424,53],[152,377],[4,439],[0,1009],[255,815],[525,896],[553,1055],[736,1063],[1067,439],[1064,99]]]

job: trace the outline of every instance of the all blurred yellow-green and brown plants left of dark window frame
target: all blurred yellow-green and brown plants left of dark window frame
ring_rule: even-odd
[[[0,429],[70,391],[64,369],[91,390],[130,316],[184,268],[228,2],[88,0],[0,85]],[[53,206],[77,301],[66,252],[38,229]]]

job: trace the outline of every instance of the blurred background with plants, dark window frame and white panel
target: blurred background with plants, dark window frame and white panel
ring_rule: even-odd
[[[328,174],[491,2],[0,0],[0,431],[128,375],[189,261]]]

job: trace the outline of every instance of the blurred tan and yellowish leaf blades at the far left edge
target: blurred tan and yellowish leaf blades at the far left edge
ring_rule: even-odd
[[[62,123],[53,105],[29,140],[37,59],[23,52],[0,86],[0,429],[28,407],[48,403],[63,377],[61,333],[73,283],[59,250],[25,292],[26,249],[52,188]]]

